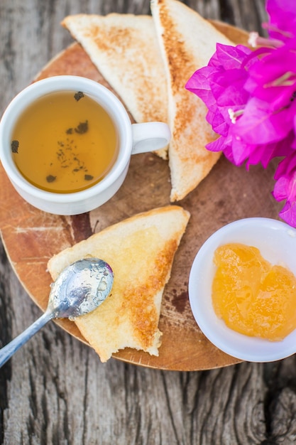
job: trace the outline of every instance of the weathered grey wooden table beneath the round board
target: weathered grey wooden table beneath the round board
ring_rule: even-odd
[[[263,0],[187,0],[206,18],[261,31]],[[0,110],[72,43],[68,14],[149,14],[148,0],[1,0]],[[1,210],[0,210],[1,211]],[[0,346],[40,310],[0,250]],[[55,323],[0,370],[0,443],[291,444],[295,356],[205,371],[142,368],[94,351]]]

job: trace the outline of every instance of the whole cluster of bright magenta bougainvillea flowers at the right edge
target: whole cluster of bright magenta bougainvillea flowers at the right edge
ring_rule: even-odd
[[[219,135],[207,149],[246,168],[282,159],[273,196],[286,201],[280,216],[296,227],[296,2],[267,0],[266,9],[269,37],[251,38],[261,48],[217,44],[185,87],[207,105]]]

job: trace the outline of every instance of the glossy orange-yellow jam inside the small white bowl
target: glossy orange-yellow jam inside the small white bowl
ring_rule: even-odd
[[[296,328],[296,278],[256,247],[232,243],[214,253],[216,316],[246,336],[280,341]]]

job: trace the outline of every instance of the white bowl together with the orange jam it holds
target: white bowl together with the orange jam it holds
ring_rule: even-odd
[[[239,249],[238,254],[220,250],[219,257],[225,245],[246,250]],[[271,218],[233,221],[203,242],[192,262],[188,294],[199,335],[204,334],[204,341],[218,349],[213,353],[221,351],[256,363],[296,353],[295,252],[296,228]],[[214,282],[218,309],[212,299]],[[221,313],[216,312],[220,307]],[[227,323],[233,323],[231,327],[221,318],[223,313],[229,318]],[[283,340],[275,341],[279,338]]]

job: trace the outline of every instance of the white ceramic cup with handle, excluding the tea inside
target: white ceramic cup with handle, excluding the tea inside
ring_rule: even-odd
[[[111,171],[94,186],[74,193],[53,193],[33,186],[18,171],[11,153],[11,134],[18,117],[39,97],[58,91],[82,91],[92,97],[109,114],[119,135],[119,153]],[[111,91],[72,75],[48,77],[29,85],[11,101],[0,122],[0,160],[13,187],[34,207],[56,215],[77,215],[106,203],[124,182],[131,154],[162,149],[169,141],[167,124],[131,124],[124,105]]]

